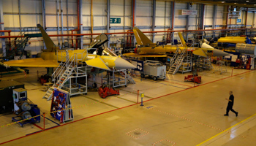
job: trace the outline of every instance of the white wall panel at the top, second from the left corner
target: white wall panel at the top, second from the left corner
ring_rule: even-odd
[[[42,13],[42,1],[20,0],[20,12]]]

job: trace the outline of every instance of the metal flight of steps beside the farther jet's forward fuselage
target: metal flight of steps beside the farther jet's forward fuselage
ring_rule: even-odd
[[[186,55],[186,49],[181,50],[181,53],[178,54],[178,50],[181,50],[179,47],[176,50],[176,54],[177,57],[176,59],[173,56],[173,64],[171,64],[169,71],[167,72],[167,74],[176,74],[176,72],[178,72],[178,69],[181,67],[181,64],[183,63],[183,60],[185,58]]]

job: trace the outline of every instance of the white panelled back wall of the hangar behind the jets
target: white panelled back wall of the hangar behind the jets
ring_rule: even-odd
[[[20,0],[20,18],[19,18],[19,0],[2,0],[4,12],[4,28],[5,30],[12,30],[11,35],[18,35],[21,28],[31,27],[36,29],[37,23],[42,25],[42,1],[43,0]],[[59,1],[59,3],[57,2]],[[120,18],[121,23],[110,23],[109,32],[124,32],[132,29],[132,0],[109,0],[110,1],[110,18]],[[71,30],[78,28],[78,0],[45,0],[45,26],[48,34],[71,34]],[[187,2],[175,2],[175,18],[174,30],[195,30],[199,28],[199,21],[201,18],[200,12],[201,4],[192,4],[190,6]],[[61,17],[61,5],[62,14]],[[108,0],[94,0],[92,7],[93,33],[107,32],[107,12]],[[142,31],[152,31],[153,23],[153,1],[150,0],[136,0],[135,4],[135,26]],[[91,33],[91,0],[82,0],[81,6],[83,26],[83,34]],[[59,9],[59,12],[58,12]],[[181,15],[181,9],[197,10],[197,15]],[[171,28],[172,23],[172,7],[171,1],[156,1],[156,17],[154,31],[167,31]],[[223,28],[226,25],[226,6],[217,6],[217,16],[215,18],[216,27]],[[57,14],[59,13],[59,17]],[[214,5],[206,4],[204,9],[204,28],[211,29],[214,24]],[[244,25],[246,12],[242,11],[241,23],[236,23],[237,19],[231,19],[231,25]],[[21,20],[21,21],[20,21]],[[58,22],[59,21],[59,22]],[[61,22],[62,25],[61,25]],[[249,12],[247,18],[247,25],[254,25],[256,20],[254,13]],[[228,20],[230,24],[230,19]],[[59,26],[59,32],[58,30]],[[251,26],[247,26],[250,28]],[[67,31],[67,28],[69,31]],[[76,34],[77,31],[74,31]],[[7,35],[7,33],[5,34]],[[164,34],[147,33],[154,42],[161,41]],[[153,37],[154,35],[154,37]],[[187,36],[186,36],[187,35]],[[110,35],[110,43],[121,42],[124,39],[124,34]],[[96,36],[94,36],[96,37]],[[184,37],[192,38],[194,34],[184,34]],[[75,38],[75,37],[74,37]],[[174,39],[177,39],[174,35]],[[62,45],[64,42],[69,42],[71,47],[71,37],[53,37],[56,45]],[[83,44],[85,47],[91,42],[91,36],[83,37]],[[75,41],[74,41],[75,43]],[[31,50],[32,54],[37,54],[43,49],[42,38],[32,38],[26,50]]]

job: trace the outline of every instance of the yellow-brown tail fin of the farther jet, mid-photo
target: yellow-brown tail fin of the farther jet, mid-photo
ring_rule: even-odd
[[[140,31],[139,28],[134,27],[133,33],[135,34],[135,38],[138,45],[150,46],[154,44],[153,42],[151,42],[150,39],[148,39],[148,37],[146,37],[145,34],[143,34],[143,32]]]

